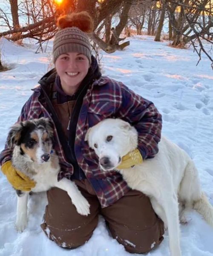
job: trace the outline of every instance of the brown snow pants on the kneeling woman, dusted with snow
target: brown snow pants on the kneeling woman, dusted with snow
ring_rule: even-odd
[[[114,204],[101,209],[88,180],[75,183],[89,201],[88,216],[78,214],[65,191],[52,188],[47,192],[48,205],[41,227],[59,246],[75,248],[88,241],[98,224],[99,214],[104,217],[112,237],[130,253],[146,253],[161,243],[164,225],[146,195],[130,190]]]

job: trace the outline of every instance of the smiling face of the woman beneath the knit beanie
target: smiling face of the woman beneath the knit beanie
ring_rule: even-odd
[[[67,52],[57,58],[55,68],[63,91],[72,96],[88,73],[89,59],[78,52]]]

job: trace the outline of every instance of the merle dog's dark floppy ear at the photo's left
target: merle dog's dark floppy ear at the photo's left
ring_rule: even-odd
[[[7,137],[7,145],[12,148],[14,145],[20,144],[21,132],[23,130],[23,123],[13,125]]]

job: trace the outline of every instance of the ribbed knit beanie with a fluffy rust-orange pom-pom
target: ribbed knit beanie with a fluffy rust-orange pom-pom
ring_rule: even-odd
[[[72,13],[58,18],[58,32],[53,41],[53,63],[63,53],[78,52],[89,59],[91,64],[91,46],[86,33],[93,30],[93,21],[87,12]]]

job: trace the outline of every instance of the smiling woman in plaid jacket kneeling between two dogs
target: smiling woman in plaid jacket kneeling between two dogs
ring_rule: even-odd
[[[75,248],[92,236],[103,215],[112,237],[131,253],[145,253],[162,241],[163,222],[155,215],[149,198],[130,190],[117,172],[102,172],[98,159],[84,141],[89,127],[109,117],[121,118],[138,131],[136,160],[122,160],[122,168],[154,157],[161,137],[161,114],[152,102],[121,82],[101,76],[91,54],[87,32],[93,23],[86,12],[58,20],[53,42],[55,69],[40,79],[40,86],[23,106],[18,122],[48,117],[54,124],[55,150],[60,159],[58,178],[74,180],[89,201],[90,214],[79,215],[63,190],[47,192],[48,205],[42,229],[59,246]],[[0,154],[3,173],[15,189],[29,191],[35,183],[20,177],[11,165],[12,150]]]

